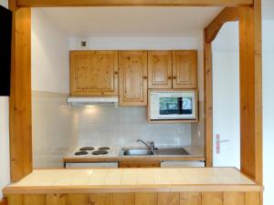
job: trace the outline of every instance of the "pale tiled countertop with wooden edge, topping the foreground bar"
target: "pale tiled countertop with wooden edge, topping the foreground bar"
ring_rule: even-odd
[[[261,190],[235,168],[41,169],[4,194]]]

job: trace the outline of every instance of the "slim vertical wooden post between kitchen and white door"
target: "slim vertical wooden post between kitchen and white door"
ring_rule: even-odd
[[[204,31],[204,89],[205,89],[205,167],[213,166],[213,79],[212,45],[205,40]]]

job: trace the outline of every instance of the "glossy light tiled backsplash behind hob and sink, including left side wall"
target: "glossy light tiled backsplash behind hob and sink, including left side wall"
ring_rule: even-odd
[[[69,107],[67,94],[33,91],[34,167],[61,167],[77,146],[188,146],[191,124],[150,124],[145,107]]]

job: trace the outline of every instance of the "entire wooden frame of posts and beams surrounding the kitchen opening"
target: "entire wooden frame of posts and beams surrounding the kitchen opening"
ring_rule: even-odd
[[[12,49],[12,86],[10,100],[10,152],[12,181],[22,179],[32,171],[31,87],[30,87],[30,7],[35,6],[226,6],[205,28],[205,157],[206,167],[212,167],[213,105],[211,42],[228,21],[239,19],[241,96],[241,168],[252,179],[262,182],[262,103],[261,103],[261,1],[260,0],[9,0],[14,12]],[[27,8],[21,8],[27,7]],[[240,10],[238,10],[240,8]],[[24,10],[25,9],[25,10]],[[24,12],[22,12],[24,11]],[[241,12],[239,12],[241,11]],[[24,17],[21,16],[24,13]],[[29,18],[27,20],[27,18]],[[18,27],[16,27],[18,26]],[[19,29],[18,29],[19,28]],[[21,30],[21,32],[20,32]],[[244,38],[245,31],[252,35]],[[242,37],[241,37],[242,36]],[[244,40],[246,39],[246,40]],[[251,51],[251,52],[250,52]],[[245,55],[247,54],[248,55]],[[252,64],[248,64],[248,58]],[[23,65],[22,62],[25,62]],[[247,73],[251,69],[253,75]],[[24,99],[24,100],[21,100]],[[256,105],[255,105],[256,102]],[[248,110],[248,112],[247,112]],[[250,119],[250,118],[251,119]],[[23,135],[22,135],[23,133]],[[245,147],[245,143],[249,147]],[[24,148],[24,149],[22,149]],[[26,151],[25,151],[26,150]],[[248,151],[249,150],[249,151]]]

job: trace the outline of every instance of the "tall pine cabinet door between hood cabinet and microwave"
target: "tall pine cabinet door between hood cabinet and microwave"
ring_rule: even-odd
[[[119,53],[119,96],[121,106],[147,105],[147,52]]]

